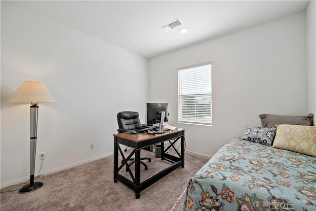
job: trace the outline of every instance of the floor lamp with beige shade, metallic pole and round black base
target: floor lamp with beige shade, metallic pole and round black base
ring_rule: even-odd
[[[34,182],[36,140],[38,129],[39,103],[56,103],[56,100],[47,89],[46,85],[39,82],[23,82],[13,93],[8,102],[31,103],[31,144],[30,144],[30,184],[24,185],[19,193],[29,193],[39,189],[43,183]]]

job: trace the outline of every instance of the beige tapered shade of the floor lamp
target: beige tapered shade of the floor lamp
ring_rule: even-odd
[[[13,93],[8,102],[12,103],[57,103],[44,83],[25,81]]]

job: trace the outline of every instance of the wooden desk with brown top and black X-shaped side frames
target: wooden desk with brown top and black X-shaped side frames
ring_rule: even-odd
[[[173,170],[175,170],[178,167],[184,167],[184,129],[175,129],[171,132],[165,132],[163,134],[147,134],[147,133],[141,133],[132,135],[129,132],[127,133],[118,133],[114,134],[114,182],[117,183],[120,181],[127,187],[129,187],[131,190],[135,192],[135,196],[138,199],[140,197],[140,192],[144,190],[145,188],[149,187],[158,179],[162,178],[163,176],[166,176]],[[170,141],[173,140],[173,141]],[[181,140],[181,153],[178,152],[174,144]],[[161,159],[169,161],[173,165],[169,166],[168,168],[162,170],[158,174],[151,176],[147,180],[141,182],[141,174],[140,174],[140,151],[142,148],[151,146],[153,144],[158,144],[163,141],[169,141],[170,145],[164,149],[164,145],[161,144]],[[119,144],[123,144],[125,146],[129,146],[133,148],[134,150],[125,158]],[[170,147],[173,147],[175,150],[175,153],[178,154],[179,157],[170,155],[165,153]],[[118,151],[120,155],[123,158],[122,164],[118,166]],[[131,158],[135,154],[135,175],[133,175],[132,171],[130,170],[127,161],[129,158]],[[126,170],[129,172],[132,181],[122,175],[119,174],[119,171],[126,167]]]

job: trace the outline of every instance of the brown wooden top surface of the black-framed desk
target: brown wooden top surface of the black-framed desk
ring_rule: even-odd
[[[133,141],[133,142],[141,142],[141,141],[147,141],[151,139],[156,139],[158,137],[162,136],[167,136],[170,134],[174,133],[179,133],[181,131],[184,131],[185,129],[182,128],[177,128],[174,131],[167,131],[162,134],[149,134],[149,133],[139,133],[139,134],[130,134],[130,132],[126,133],[118,133],[118,134],[113,134],[113,136],[128,140],[128,141]]]

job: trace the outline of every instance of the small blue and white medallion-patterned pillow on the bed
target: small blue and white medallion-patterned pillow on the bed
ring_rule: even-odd
[[[276,135],[276,127],[262,128],[248,126],[241,139],[271,146]]]

